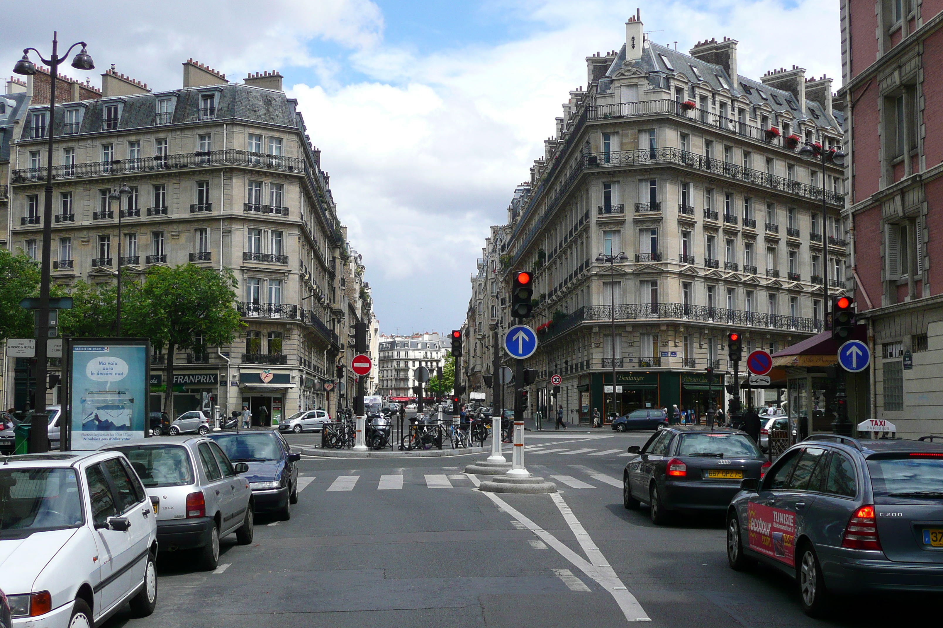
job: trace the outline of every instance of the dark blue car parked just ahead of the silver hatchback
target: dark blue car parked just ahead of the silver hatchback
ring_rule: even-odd
[[[273,511],[283,521],[298,503],[298,460],[289,443],[274,429],[250,429],[209,434],[235,463],[244,462],[255,512]]]

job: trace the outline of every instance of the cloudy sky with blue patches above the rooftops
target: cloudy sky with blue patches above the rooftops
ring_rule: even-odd
[[[180,87],[189,57],[230,80],[280,71],[381,330],[446,331],[488,226],[586,87],[585,57],[618,49],[636,8],[650,39],[678,50],[738,40],[741,74],[797,64],[840,84],[837,0],[33,0],[4,8],[0,51],[10,67],[26,46],[48,54],[58,29],[88,41],[99,71],[114,63],[154,89]]]

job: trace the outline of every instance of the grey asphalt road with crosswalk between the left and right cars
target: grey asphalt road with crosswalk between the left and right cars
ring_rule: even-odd
[[[527,468],[557,483],[555,498],[476,491],[478,478],[463,469],[480,454],[306,457],[290,521],[256,520],[249,546],[223,539],[216,572],[162,556],[155,614],[123,612],[106,626],[608,628],[648,618],[670,628],[858,628],[921,619],[928,600],[893,595],[811,620],[785,576],[728,567],[721,520],[659,527],[647,509],[624,509],[622,454],[647,437],[527,432]]]

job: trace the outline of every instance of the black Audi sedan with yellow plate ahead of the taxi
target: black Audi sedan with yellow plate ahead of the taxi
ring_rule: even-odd
[[[652,522],[674,512],[726,511],[745,477],[759,479],[769,461],[745,433],[728,427],[670,426],[631,446],[622,473],[622,502],[650,507]]]

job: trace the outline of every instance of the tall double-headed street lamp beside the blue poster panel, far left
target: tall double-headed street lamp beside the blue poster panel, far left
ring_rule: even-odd
[[[48,450],[48,422],[46,421],[46,383],[49,364],[48,340],[49,340],[49,284],[50,284],[50,266],[51,248],[53,239],[53,122],[56,117],[56,79],[58,77],[58,67],[63,60],[69,56],[75,46],[81,45],[81,51],[74,56],[72,67],[76,70],[94,70],[95,64],[91,61],[86,50],[85,41],[78,41],[66,51],[65,55],[58,56],[58,32],[53,33],[53,54],[50,58],[42,57],[40,51],[36,48],[24,48],[23,58],[13,66],[13,72],[32,76],[36,73],[36,66],[29,60],[29,51],[32,50],[40,57],[42,63],[49,67],[50,89],[49,89],[49,122],[46,126],[47,137],[49,139],[48,149],[46,151],[46,186],[44,207],[42,209],[42,261],[41,261],[41,279],[40,279],[40,307],[39,307],[39,337],[36,339],[36,403],[34,404],[32,431],[29,438],[29,449],[33,452],[45,452]],[[64,442],[63,442],[64,443]],[[63,446],[60,444],[60,446]]]

